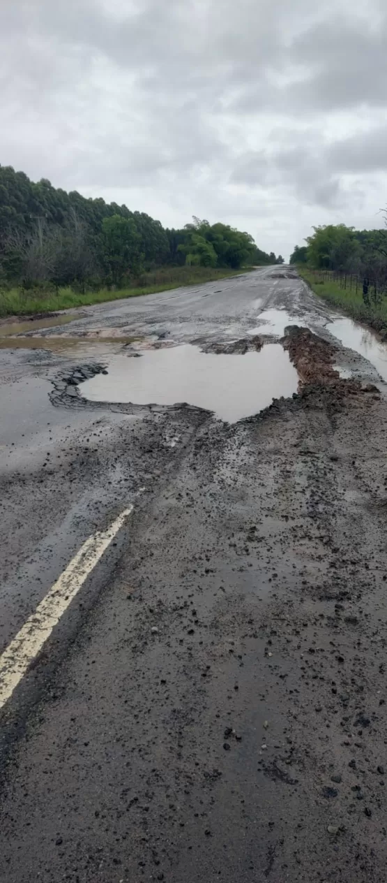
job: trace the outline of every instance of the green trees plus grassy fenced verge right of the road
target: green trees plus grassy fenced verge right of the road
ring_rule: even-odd
[[[317,295],[387,335],[387,230],[314,227],[290,258]]]

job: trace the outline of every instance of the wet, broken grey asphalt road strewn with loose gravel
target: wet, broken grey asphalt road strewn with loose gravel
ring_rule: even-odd
[[[282,275],[0,350],[2,653],[133,505],[0,712],[2,883],[384,879],[387,404]],[[53,402],[126,338],[278,341],[280,310],[302,385],[258,415]]]

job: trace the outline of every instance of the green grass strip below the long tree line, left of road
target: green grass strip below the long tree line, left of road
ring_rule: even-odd
[[[212,269],[205,267],[169,267],[160,268],[143,277],[144,284],[138,288],[127,288],[121,291],[88,291],[81,294],[71,288],[56,291],[21,291],[11,289],[0,290],[0,316],[26,316],[34,313],[56,313],[58,310],[74,309],[77,306],[102,304],[109,300],[121,298],[138,298],[143,294],[154,294],[158,291],[169,291],[184,285],[197,285],[205,282],[216,282],[233,275],[240,275],[252,268],[239,270]]]

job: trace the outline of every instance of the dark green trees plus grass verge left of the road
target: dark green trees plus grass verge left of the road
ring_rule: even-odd
[[[132,297],[282,262],[227,224],[194,217],[167,230],[143,212],[0,166],[0,315]]]

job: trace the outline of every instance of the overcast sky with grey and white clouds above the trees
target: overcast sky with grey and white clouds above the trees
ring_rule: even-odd
[[[383,225],[386,0],[0,0],[0,163],[288,257]]]

